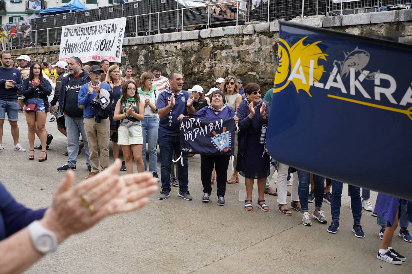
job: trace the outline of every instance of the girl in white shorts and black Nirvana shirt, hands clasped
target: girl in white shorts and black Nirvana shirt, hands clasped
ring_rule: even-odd
[[[117,129],[117,144],[122,145],[127,173],[133,173],[133,157],[137,171],[145,171],[142,160],[143,137],[140,123],[143,120],[144,111],[145,107],[137,93],[136,84],[132,81],[125,81],[122,85],[122,94],[116,104],[113,120],[120,120],[120,126]]]

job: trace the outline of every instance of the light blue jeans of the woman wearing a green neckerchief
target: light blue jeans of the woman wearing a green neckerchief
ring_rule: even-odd
[[[145,170],[147,170],[146,162],[146,134],[147,134],[147,150],[149,150],[149,171],[157,172],[157,130],[159,129],[159,117],[145,117],[142,121],[142,136],[143,136],[143,150],[142,159],[145,163]]]

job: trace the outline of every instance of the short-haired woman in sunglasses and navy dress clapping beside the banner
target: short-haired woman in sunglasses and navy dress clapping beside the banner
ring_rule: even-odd
[[[266,177],[269,175],[269,155],[264,148],[266,131],[262,131],[269,120],[269,102],[262,100],[262,91],[256,83],[248,83],[245,94],[246,100],[241,102],[237,111],[240,129],[237,170],[245,177],[245,209],[253,210],[253,183],[258,179],[258,206],[263,211],[269,211],[264,200]]]

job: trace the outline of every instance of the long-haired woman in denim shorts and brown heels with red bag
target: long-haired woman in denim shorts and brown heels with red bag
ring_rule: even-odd
[[[49,111],[49,101],[47,96],[52,94],[52,86],[49,81],[43,78],[42,69],[38,62],[33,62],[30,66],[29,76],[23,81],[23,104],[36,104],[35,112],[25,112],[27,121],[27,137],[30,144],[29,160],[34,159],[34,138],[35,128],[39,132],[40,142],[44,150],[40,153],[39,162],[47,160],[46,143],[47,132],[45,129],[47,112]],[[33,152],[32,152],[33,151]]]

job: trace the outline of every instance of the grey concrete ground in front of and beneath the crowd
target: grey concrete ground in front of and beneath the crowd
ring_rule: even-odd
[[[24,114],[19,119],[20,143],[27,152],[12,149],[6,116],[0,180],[18,202],[30,208],[47,207],[64,175],[56,168],[66,163],[62,155],[66,138],[57,131],[56,122],[47,122],[46,128],[54,136],[48,160],[29,161]],[[38,139],[35,144],[39,144]],[[39,156],[36,150],[35,157]],[[245,189],[243,178],[239,184],[227,185],[225,206],[218,206],[214,195],[210,203],[202,203],[199,155],[189,159],[189,166],[192,201],[178,197],[176,187],[166,200],[158,200],[154,194],[142,210],[110,216],[94,228],[71,236],[56,253],[45,256],[26,273],[411,273],[412,243],[398,237],[398,229],[393,247],[407,257],[402,265],[376,258],[380,227],[370,212],[363,210],[366,237],[354,236],[346,195],[342,196],[340,230],[330,234],[326,231],[328,225],[315,219],[311,227],[303,226],[302,215],[296,211],[292,216],[279,213],[274,196],[265,196],[270,211],[263,212],[255,206],[256,187],[253,211],[244,210],[238,200],[239,190]],[[88,174],[84,152],[75,173],[76,182]],[[275,180],[276,173],[273,188]],[[372,204],[375,199],[376,193],[372,192]],[[314,209],[313,203],[309,203],[309,209]],[[331,221],[330,205],[324,203],[323,210]]]

